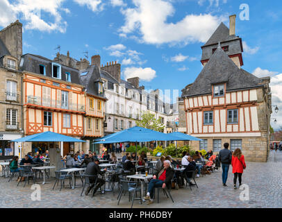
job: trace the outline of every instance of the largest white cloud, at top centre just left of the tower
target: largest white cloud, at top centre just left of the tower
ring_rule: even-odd
[[[172,3],[165,0],[133,0],[135,8],[122,10],[125,24],[122,35],[140,33],[139,39],[147,44],[206,42],[219,25],[219,17],[186,15],[181,21],[167,22],[174,15]],[[131,35],[132,36],[132,35]]]

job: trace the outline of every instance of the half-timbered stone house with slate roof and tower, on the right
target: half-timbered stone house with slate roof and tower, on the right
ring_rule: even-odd
[[[241,148],[246,160],[265,162],[269,144],[270,78],[257,78],[242,69],[242,40],[219,25],[202,46],[204,65],[194,83],[182,90],[187,133],[203,139],[192,148],[213,150],[228,142]]]

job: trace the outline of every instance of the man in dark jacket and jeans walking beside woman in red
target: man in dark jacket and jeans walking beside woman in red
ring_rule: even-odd
[[[229,151],[229,143],[223,144],[224,149],[219,151],[218,159],[220,162],[222,162],[222,185],[224,187],[227,187],[226,180],[228,178],[228,171],[229,171],[229,165],[231,164],[232,160],[232,153]]]

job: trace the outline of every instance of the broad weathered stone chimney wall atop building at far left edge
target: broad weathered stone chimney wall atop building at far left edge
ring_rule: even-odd
[[[0,31],[0,39],[11,55],[18,60],[22,57],[22,23],[17,20]]]

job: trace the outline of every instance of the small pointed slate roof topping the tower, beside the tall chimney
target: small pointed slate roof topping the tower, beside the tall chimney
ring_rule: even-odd
[[[236,35],[229,35],[229,28],[227,28],[226,25],[224,25],[222,22],[221,24],[219,24],[213,35],[210,37],[208,42],[204,44],[204,46],[217,44],[218,42],[227,42],[235,39],[240,39],[240,37]]]

